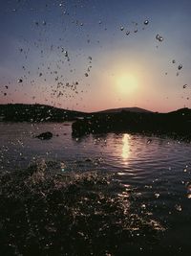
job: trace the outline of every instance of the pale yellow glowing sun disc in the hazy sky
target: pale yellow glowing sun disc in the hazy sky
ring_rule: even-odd
[[[129,74],[118,77],[116,84],[121,94],[132,94],[138,89],[138,79]]]

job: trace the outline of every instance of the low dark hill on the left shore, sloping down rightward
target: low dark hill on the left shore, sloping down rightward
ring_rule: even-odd
[[[5,122],[63,122],[78,116],[85,113],[50,105],[0,105],[0,120]]]

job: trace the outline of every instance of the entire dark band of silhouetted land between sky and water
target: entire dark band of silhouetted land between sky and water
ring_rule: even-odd
[[[0,105],[0,121],[74,121],[73,135],[77,137],[89,133],[137,132],[191,140],[191,109],[189,108],[158,113],[138,107],[125,107],[85,113],[50,105]]]

